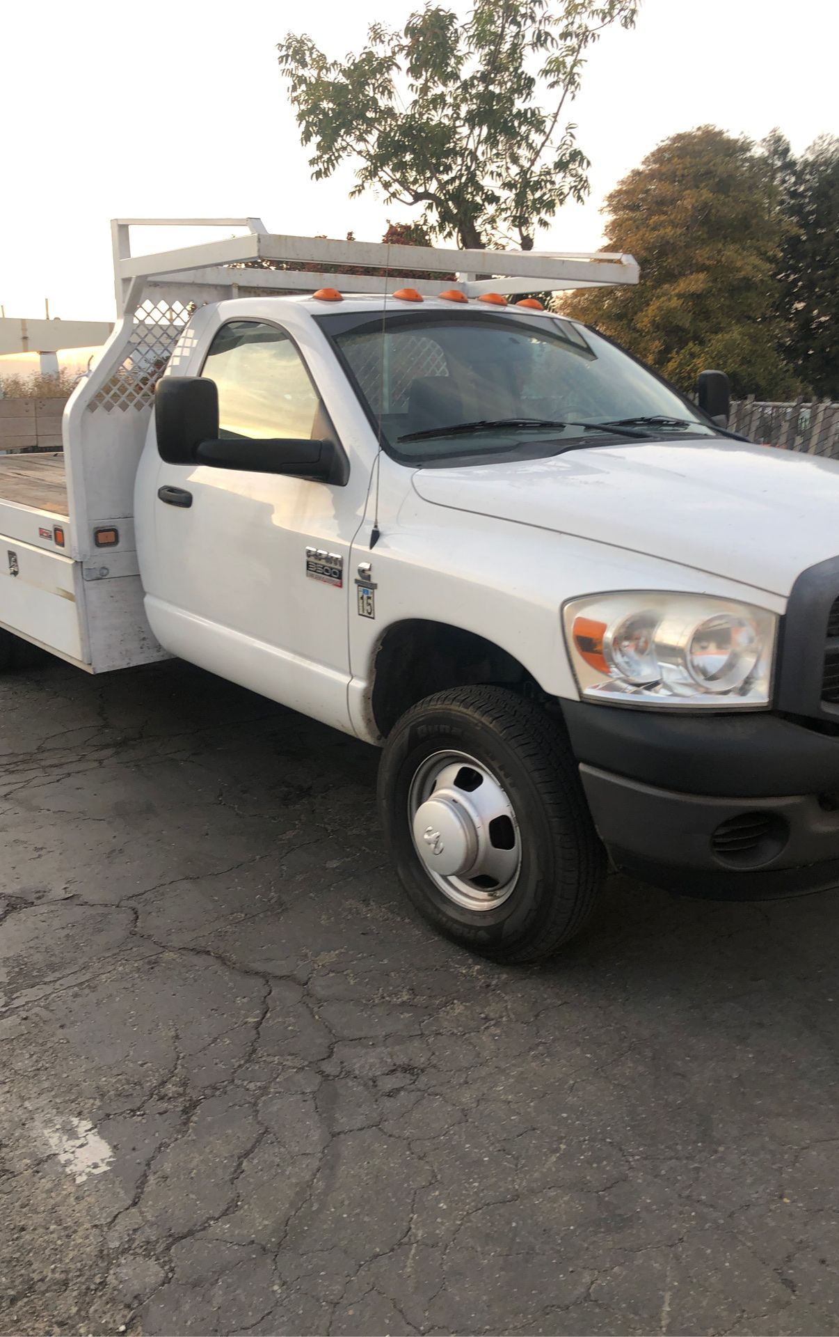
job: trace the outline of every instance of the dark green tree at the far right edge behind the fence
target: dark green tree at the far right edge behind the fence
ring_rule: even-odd
[[[763,147],[790,225],[779,266],[783,353],[816,396],[839,398],[839,139],[822,135],[798,160],[778,131]]]

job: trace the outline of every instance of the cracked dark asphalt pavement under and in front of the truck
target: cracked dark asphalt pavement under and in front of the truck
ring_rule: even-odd
[[[839,1330],[839,896],[433,936],[377,754],[182,663],[0,682],[3,1333]]]

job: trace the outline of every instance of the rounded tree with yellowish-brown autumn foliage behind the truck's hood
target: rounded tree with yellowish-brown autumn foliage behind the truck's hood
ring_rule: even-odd
[[[736,397],[800,389],[779,353],[775,275],[787,223],[766,155],[701,126],[653,148],[605,207],[605,250],[635,255],[641,282],[570,294],[565,313],[684,392],[704,368],[727,372]]]

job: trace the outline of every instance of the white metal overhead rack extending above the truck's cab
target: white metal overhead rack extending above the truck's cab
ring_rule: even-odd
[[[152,255],[132,255],[130,229],[134,226],[246,227],[247,233]],[[266,231],[259,218],[116,218],[111,223],[111,237],[120,316],[139,305],[150,289],[159,301],[182,301],[184,286],[190,290],[188,301],[210,302],[253,290],[306,293],[325,286],[345,293],[385,294],[407,282],[426,297],[453,286],[466,297],[480,297],[488,291],[561,291],[639,281],[637,262],[632,255],[617,253],[454,250],[285,237]],[[266,269],[261,262],[290,267]],[[305,267],[307,265],[319,269],[313,273]],[[370,273],[358,274],[358,269]],[[417,278],[418,270],[440,274],[440,279]]]

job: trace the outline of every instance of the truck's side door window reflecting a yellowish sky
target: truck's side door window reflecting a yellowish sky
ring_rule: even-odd
[[[313,437],[318,394],[294,344],[274,325],[223,325],[200,374],[218,385],[220,436]]]

